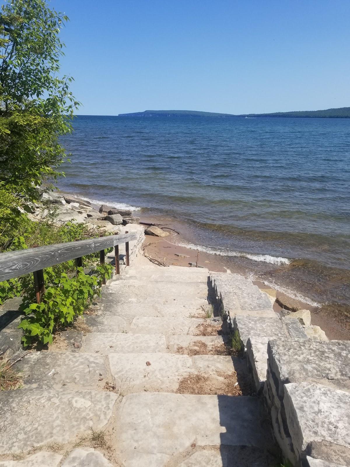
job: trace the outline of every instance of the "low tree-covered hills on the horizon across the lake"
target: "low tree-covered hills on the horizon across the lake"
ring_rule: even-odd
[[[299,110],[295,112],[232,113],[198,112],[196,110],[145,110],[144,112],[119,113],[119,117],[294,117],[294,118],[350,118],[350,107],[326,110]]]

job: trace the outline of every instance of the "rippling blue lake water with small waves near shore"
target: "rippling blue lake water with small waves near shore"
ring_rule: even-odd
[[[61,189],[178,219],[192,248],[310,304],[350,304],[350,120],[79,116],[73,127]]]

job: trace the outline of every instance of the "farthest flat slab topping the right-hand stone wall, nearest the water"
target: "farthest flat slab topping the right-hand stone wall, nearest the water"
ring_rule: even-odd
[[[270,299],[250,279],[239,274],[210,273],[212,287],[222,311],[233,319],[235,315],[273,316]]]

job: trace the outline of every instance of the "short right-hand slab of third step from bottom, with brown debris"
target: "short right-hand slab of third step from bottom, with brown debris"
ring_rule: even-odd
[[[226,355],[228,336],[168,336],[167,348],[172,354]]]

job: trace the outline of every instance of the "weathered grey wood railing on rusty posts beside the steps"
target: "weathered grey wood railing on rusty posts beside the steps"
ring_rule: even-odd
[[[82,266],[82,257],[100,252],[100,262],[105,262],[105,249],[114,247],[115,272],[119,269],[119,245],[125,243],[126,266],[129,266],[129,241],[137,240],[136,233],[122,233],[108,237],[93,238],[91,240],[70,241],[47,245],[45,247],[28,248],[0,254],[0,282],[24,274],[33,273],[36,300],[45,291],[43,269],[55,266],[61,262],[76,260],[76,266]]]

